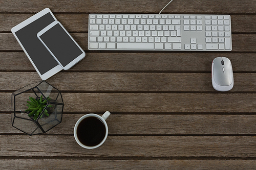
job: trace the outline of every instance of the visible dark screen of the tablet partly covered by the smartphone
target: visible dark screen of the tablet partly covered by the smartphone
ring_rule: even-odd
[[[52,15],[47,13],[26,27],[15,32],[41,75],[58,65],[57,61],[52,57],[47,48],[37,38],[37,33],[53,21],[55,20]]]

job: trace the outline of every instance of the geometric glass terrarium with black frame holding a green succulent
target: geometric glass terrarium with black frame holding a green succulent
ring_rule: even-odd
[[[58,89],[41,81],[12,93],[12,126],[29,135],[46,133],[61,123],[63,99]]]

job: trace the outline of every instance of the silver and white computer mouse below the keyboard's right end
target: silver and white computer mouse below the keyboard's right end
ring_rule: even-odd
[[[233,70],[228,58],[217,57],[212,61],[211,83],[218,91],[228,91],[233,88]]]

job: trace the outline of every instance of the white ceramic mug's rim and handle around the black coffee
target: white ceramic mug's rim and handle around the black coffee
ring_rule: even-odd
[[[82,117],[80,117],[80,118],[77,120],[76,125],[75,125],[75,128],[74,128],[74,137],[75,137],[76,142],[77,142],[81,147],[86,148],[86,149],[95,149],[95,148],[98,148],[100,145],[102,145],[102,144],[104,143],[104,141],[106,140],[106,137],[108,137],[109,129],[108,129],[108,125],[106,125],[105,119],[108,118],[109,116],[110,116],[110,112],[109,112],[109,111],[106,111],[102,116],[99,116],[99,115],[94,114],[94,113],[90,113],[90,114],[86,114],[86,115],[83,115]],[[105,126],[105,130],[106,130],[105,136],[104,136],[103,140],[102,140],[99,144],[97,144],[97,145],[95,145],[95,146],[93,146],[93,147],[90,147],[90,146],[87,146],[87,145],[82,144],[82,143],[79,141],[78,137],[77,137],[77,127],[78,127],[79,123],[80,123],[84,118],[87,118],[87,117],[97,117],[97,118],[99,118],[99,119],[103,122],[103,124],[104,124],[104,126]]]

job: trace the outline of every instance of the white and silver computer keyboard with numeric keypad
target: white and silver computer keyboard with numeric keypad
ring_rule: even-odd
[[[230,15],[90,14],[89,50],[231,51]]]

